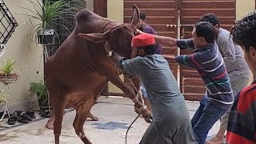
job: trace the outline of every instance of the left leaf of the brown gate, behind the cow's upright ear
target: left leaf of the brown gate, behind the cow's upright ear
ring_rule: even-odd
[[[124,22],[130,23],[133,5],[146,14],[146,24],[152,26],[158,35],[177,38],[177,10],[176,0],[124,0]],[[177,47],[162,47],[163,54],[177,55]],[[168,59],[170,69],[177,78],[177,63]]]

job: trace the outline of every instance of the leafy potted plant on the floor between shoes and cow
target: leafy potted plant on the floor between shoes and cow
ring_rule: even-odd
[[[48,92],[46,89],[46,84],[42,80],[39,82],[30,82],[30,93],[37,94],[38,96],[38,105],[40,110],[48,110]]]

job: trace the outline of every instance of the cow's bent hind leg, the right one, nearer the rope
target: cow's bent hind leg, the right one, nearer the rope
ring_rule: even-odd
[[[92,144],[90,140],[86,137],[83,130],[83,125],[86,122],[86,118],[90,116],[90,109],[92,106],[94,106],[95,103],[95,99],[93,97],[88,97],[90,98],[88,99],[88,102],[86,102],[83,107],[79,107],[78,110],[76,110],[77,114],[74,118],[73,126],[75,133],[78,134],[78,137],[81,138],[82,142],[84,142],[85,144]]]

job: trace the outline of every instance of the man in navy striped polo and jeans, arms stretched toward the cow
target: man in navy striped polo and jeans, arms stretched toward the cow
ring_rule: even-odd
[[[142,34],[142,32],[139,33]],[[180,55],[175,60],[179,64],[194,67],[206,83],[206,94],[191,119],[199,143],[205,144],[207,134],[214,123],[230,110],[234,96],[222,55],[214,41],[214,26],[210,22],[198,22],[192,34],[192,38],[185,40],[162,36],[154,36],[154,38],[163,46],[177,45],[181,49],[195,48],[194,54]]]

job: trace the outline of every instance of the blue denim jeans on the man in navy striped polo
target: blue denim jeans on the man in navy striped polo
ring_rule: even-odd
[[[206,137],[209,130],[214,126],[214,123],[226,113],[226,111],[227,110],[219,108],[214,102],[210,102],[206,96],[202,98],[198,110],[191,119],[193,131],[199,138],[199,144],[206,143]]]

